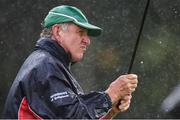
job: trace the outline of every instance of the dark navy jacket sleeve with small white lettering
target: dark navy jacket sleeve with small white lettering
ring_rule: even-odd
[[[111,108],[104,92],[75,94],[62,71],[51,64],[34,69],[25,87],[30,108],[42,118],[97,119]]]

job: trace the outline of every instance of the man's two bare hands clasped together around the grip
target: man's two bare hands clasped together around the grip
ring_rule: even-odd
[[[126,74],[119,76],[113,81],[105,91],[111,98],[112,108],[105,119],[113,118],[117,113],[126,111],[131,102],[132,93],[137,87],[138,79],[135,74]]]

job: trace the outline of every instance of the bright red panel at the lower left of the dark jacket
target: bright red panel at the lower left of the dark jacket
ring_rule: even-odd
[[[42,119],[38,116],[33,110],[29,107],[26,97],[24,97],[21,101],[19,110],[18,110],[18,119]]]

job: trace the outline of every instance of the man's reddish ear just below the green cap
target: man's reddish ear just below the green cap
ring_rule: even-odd
[[[52,37],[55,39],[55,40],[60,40],[61,38],[61,26],[58,25],[58,24],[55,24],[52,26]]]

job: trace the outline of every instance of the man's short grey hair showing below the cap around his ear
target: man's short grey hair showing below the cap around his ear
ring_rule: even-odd
[[[69,23],[62,23],[59,25],[61,26],[63,31],[68,30]],[[51,38],[52,37],[52,27],[44,28],[40,33],[40,37]]]

